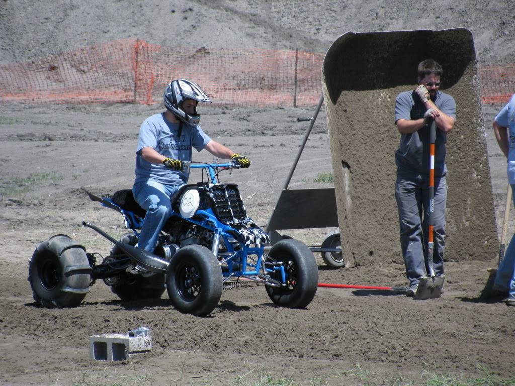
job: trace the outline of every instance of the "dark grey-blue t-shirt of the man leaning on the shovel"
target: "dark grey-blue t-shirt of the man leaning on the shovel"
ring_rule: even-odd
[[[456,102],[449,94],[438,91],[433,101],[442,113],[456,119]],[[415,91],[405,91],[397,96],[395,103],[395,121],[399,119],[416,120],[424,117],[427,109]],[[435,176],[445,176],[445,153],[447,133],[436,130],[435,140]],[[399,149],[395,152],[398,172],[407,174],[429,173],[429,126],[411,134],[402,134]]]

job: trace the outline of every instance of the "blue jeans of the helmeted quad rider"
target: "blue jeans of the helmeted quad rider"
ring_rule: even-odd
[[[140,206],[147,211],[141,227],[138,247],[148,252],[156,248],[159,234],[171,215],[170,197],[182,185],[163,185],[156,181],[134,184],[132,194]]]

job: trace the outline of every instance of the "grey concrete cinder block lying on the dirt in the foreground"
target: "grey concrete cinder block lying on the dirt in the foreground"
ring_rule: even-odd
[[[90,360],[121,361],[134,354],[152,349],[150,335],[130,337],[129,334],[102,334],[90,336]]]

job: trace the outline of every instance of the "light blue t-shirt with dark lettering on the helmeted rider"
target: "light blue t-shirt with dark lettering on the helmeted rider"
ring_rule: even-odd
[[[182,124],[181,137],[178,137],[179,124],[166,120],[164,114],[155,114],[143,122],[136,148],[136,179],[134,184],[148,180],[157,181],[163,185],[182,185],[188,181],[190,169],[177,171],[163,164],[152,164],[141,155],[141,149],[151,147],[165,157],[181,160],[192,160],[192,147],[201,151],[211,138],[205,134],[199,125],[195,128]]]

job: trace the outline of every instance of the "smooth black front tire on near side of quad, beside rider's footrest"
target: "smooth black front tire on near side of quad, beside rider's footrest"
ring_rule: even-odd
[[[202,245],[186,245],[170,261],[166,287],[176,309],[207,315],[222,295],[222,270],[218,260]]]

